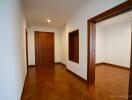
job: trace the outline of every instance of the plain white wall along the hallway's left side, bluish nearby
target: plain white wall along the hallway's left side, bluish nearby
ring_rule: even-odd
[[[19,0],[1,0],[0,12],[0,100],[20,100],[27,70]]]

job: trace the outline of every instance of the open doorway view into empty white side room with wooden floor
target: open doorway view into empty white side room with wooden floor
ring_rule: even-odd
[[[112,100],[128,96],[131,22],[129,11],[96,24],[95,85]]]

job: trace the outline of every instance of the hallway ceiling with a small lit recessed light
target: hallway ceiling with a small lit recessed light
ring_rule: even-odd
[[[24,0],[28,25],[63,27],[69,17],[89,0]],[[46,20],[51,19],[47,24]]]

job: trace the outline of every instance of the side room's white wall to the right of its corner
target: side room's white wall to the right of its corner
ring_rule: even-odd
[[[130,67],[131,21],[104,28],[105,62]]]

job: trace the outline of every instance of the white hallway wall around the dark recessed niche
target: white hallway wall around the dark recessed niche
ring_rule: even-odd
[[[83,8],[69,19],[66,24],[66,33],[68,34],[70,31],[76,29],[79,29],[80,31],[79,64],[67,59],[67,68],[69,70],[80,77],[87,79],[87,20],[124,1],[126,0],[89,0]]]

